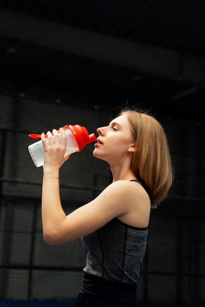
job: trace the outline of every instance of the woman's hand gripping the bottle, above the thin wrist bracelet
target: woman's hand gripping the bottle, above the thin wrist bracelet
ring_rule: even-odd
[[[65,156],[67,143],[65,131],[62,128],[59,129],[59,132],[56,129],[53,129],[52,133],[53,135],[48,131],[47,138],[44,133],[41,134],[41,140],[44,146],[44,171],[45,169],[59,169],[70,157],[70,155]]]

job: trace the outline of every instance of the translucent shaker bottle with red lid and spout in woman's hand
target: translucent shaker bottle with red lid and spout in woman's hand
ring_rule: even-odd
[[[80,152],[85,147],[85,145],[96,141],[95,134],[89,134],[87,129],[81,127],[80,125],[65,125],[62,128],[65,130],[67,135],[65,155]],[[40,134],[28,134],[28,136],[33,139],[41,137]],[[47,135],[45,136],[47,137]],[[47,143],[49,144],[48,139]],[[29,145],[28,151],[36,167],[42,166],[44,164],[44,146],[41,140]]]

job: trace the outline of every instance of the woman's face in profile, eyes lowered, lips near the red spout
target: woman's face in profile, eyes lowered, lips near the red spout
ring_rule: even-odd
[[[112,120],[109,126],[97,129],[99,137],[93,155],[108,163],[117,162],[134,151],[130,124],[126,114]]]

